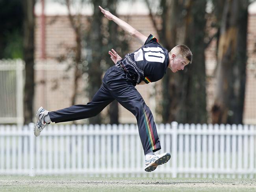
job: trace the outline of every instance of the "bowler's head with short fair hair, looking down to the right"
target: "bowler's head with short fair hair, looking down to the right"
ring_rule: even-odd
[[[192,62],[192,53],[186,45],[177,45],[169,52],[169,68],[175,73],[184,70],[184,67]]]

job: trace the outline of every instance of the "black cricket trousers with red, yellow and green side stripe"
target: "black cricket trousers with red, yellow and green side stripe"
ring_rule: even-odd
[[[49,113],[52,122],[67,122],[96,116],[113,100],[117,100],[137,119],[139,136],[145,155],[161,149],[156,124],[149,107],[141,94],[126,77],[126,73],[116,66],[110,67],[102,79],[102,85],[92,101],[87,105],[73,105]]]

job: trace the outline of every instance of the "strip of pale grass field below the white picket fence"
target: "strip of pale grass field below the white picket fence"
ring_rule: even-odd
[[[255,179],[0,176],[0,192],[255,192]]]

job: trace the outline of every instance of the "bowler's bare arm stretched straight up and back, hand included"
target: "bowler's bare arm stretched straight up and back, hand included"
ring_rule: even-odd
[[[123,20],[121,20],[120,18],[116,17],[109,11],[106,11],[105,9],[103,9],[100,6],[99,6],[99,8],[101,9],[101,12],[104,14],[104,16],[106,18],[108,18],[108,20],[113,20],[113,22],[118,24],[124,31],[128,32],[130,35],[132,35],[132,37],[137,39],[137,41],[139,41],[140,44],[144,45],[145,41],[147,40],[147,37],[145,35],[143,35],[139,31],[135,30],[128,23],[126,23]]]

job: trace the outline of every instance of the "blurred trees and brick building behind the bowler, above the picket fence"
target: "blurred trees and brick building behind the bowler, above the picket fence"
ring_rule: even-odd
[[[256,124],[256,4],[250,0],[1,0],[0,123],[28,124],[43,106],[87,103],[113,63],[139,44],[98,5],[193,63],[136,86],[158,123]],[[75,123],[135,123],[117,102]]]

